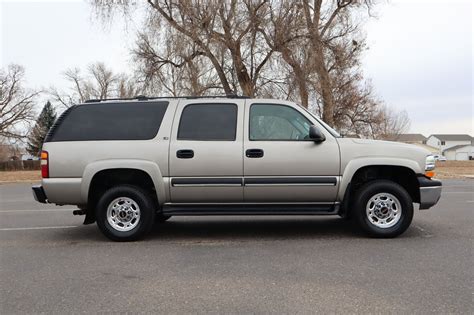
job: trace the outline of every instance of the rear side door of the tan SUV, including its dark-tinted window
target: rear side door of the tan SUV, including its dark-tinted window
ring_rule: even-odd
[[[178,104],[169,153],[172,203],[243,201],[243,115],[241,100]]]

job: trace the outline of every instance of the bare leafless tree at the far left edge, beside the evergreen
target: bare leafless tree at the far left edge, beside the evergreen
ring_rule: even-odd
[[[23,87],[24,69],[10,65],[0,69],[0,138],[18,140],[34,119],[34,100],[39,94]]]

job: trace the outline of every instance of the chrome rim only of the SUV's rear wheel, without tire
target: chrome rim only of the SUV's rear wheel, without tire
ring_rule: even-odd
[[[130,231],[140,222],[140,207],[128,197],[114,199],[107,208],[107,221],[117,231]]]

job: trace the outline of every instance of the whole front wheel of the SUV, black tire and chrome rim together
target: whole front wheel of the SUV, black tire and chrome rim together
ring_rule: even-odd
[[[373,237],[396,237],[413,219],[413,201],[399,184],[375,180],[360,188],[355,197],[355,219]]]

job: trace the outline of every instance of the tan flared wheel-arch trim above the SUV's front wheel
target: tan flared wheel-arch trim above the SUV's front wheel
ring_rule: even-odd
[[[366,166],[401,166],[411,169],[415,174],[422,174],[424,170],[420,169],[420,165],[414,161],[404,158],[389,158],[389,157],[360,157],[355,158],[347,163],[342,172],[341,184],[339,185],[338,200],[344,199],[344,194],[354,174]]]

